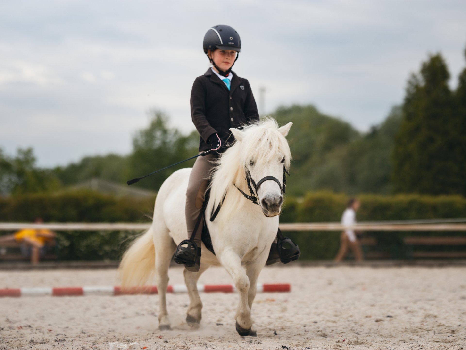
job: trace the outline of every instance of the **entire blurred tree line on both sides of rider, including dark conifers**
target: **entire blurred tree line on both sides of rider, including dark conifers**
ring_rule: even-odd
[[[294,123],[288,135],[294,161],[287,193],[324,189],[349,195],[466,196],[466,68],[456,89],[449,87],[449,79],[442,55],[430,55],[409,78],[402,105],[366,133],[312,105],[278,108],[272,116],[280,124]],[[94,177],[124,184],[195,155],[198,133],[184,135],[168,125],[167,115],[153,111],[149,126],[133,137],[129,155],[85,157],[64,167],[38,168],[32,149],[20,149],[15,156],[0,149],[0,193],[55,192]],[[158,190],[173,171],[192,163],[133,186]]]

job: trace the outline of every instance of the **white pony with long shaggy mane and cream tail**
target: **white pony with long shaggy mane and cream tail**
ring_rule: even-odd
[[[188,324],[195,326],[202,318],[202,302],[196,285],[199,276],[212,265],[222,265],[232,276],[240,294],[236,330],[243,337],[256,336],[251,307],[257,278],[277,235],[283,202],[283,172],[284,168],[288,170],[291,160],[285,136],[291,125],[290,122],[278,128],[274,119],[267,119],[241,130],[230,129],[236,141],[217,161],[206,208],[206,222],[215,255],[202,244],[199,271],[184,270],[190,299],[186,316]],[[123,286],[143,285],[155,270],[160,330],[170,329],[165,299],[168,267],[178,243],[186,239],[185,194],[190,172],[191,168],[180,169],[165,180],[155,201],[151,228],[131,245],[120,264]],[[256,183],[266,176],[278,179],[262,182],[256,188],[260,206],[247,200],[238,190],[249,193],[245,180],[247,172]],[[216,209],[223,198],[219,214],[211,222],[212,208]]]

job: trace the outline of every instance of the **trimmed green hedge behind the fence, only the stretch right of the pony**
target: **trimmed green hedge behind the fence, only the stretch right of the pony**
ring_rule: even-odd
[[[281,222],[339,222],[349,197],[331,192],[307,193],[298,200],[288,197],[280,218]],[[357,211],[358,221],[390,221],[460,218],[466,216],[466,198],[461,196],[427,195],[359,195],[361,208]],[[331,259],[339,247],[340,232],[286,232],[295,240],[304,260]],[[377,237],[377,251],[386,251],[394,258],[405,255],[404,236],[438,236],[441,232],[365,232],[365,237]],[[464,235],[448,232],[448,236]],[[418,247],[419,248],[419,247]],[[461,250],[465,247],[420,247],[426,250]],[[365,247],[369,251],[369,247]]]

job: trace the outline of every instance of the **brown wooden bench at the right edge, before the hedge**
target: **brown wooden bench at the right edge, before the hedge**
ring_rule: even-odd
[[[466,248],[462,251],[418,251],[413,246],[466,246],[466,237],[404,237],[406,256],[410,258],[466,258]]]

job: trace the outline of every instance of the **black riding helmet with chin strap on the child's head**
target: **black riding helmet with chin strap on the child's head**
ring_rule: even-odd
[[[234,62],[236,62],[236,60],[238,60],[238,57],[240,56],[239,53],[241,51],[240,34],[238,34],[238,32],[236,32],[236,30],[234,30],[230,26],[219,24],[218,26],[210,28],[207,31],[206,35],[204,35],[203,47],[204,53],[207,55],[207,57],[209,57],[209,55],[207,54],[208,50],[234,50],[238,52],[238,54],[236,54],[236,59],[234,60]],[[231,68],[233,67],[232,65],[230,69],[224,72],[215,65],[215,63],[210,59],[210,57],[209,61],[215,68],[217,68],[219,74],[223,76],[228,76],[228,74],[230,74]]]

